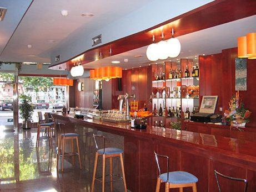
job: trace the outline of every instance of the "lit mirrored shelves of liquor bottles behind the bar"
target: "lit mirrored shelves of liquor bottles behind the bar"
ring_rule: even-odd
[[[199,65],[193,59],[152,65],[152,125],[170,127],[199,107]],[[186,112],[187,111],[187,112]],[[157,122],[157,123],[156,123]]]

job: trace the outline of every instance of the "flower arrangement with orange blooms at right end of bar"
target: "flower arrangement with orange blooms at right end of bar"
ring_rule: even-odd
[[[244,127],[249,122],[249,110],[244,108],[244,103],[239,98],[239,91],[229,101],[229,110],[225,110],[224,119],[233,127]]]

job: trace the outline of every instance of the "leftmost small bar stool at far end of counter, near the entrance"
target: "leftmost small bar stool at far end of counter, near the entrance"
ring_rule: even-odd
[[[51,123],[44,123],[42,121],[38,121],[37,123],[37,142],[36,142],[36,149],[39,147],[39,140],[40,139],[48,139],[49,140],[49,147],[52,148],[52,135],[51,135]],[[41,129],[45,129],[45,134],[47,136],[40,137]]]

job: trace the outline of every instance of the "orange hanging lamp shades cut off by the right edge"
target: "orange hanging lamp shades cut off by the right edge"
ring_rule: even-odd
[[[256,33],[237,38],[238,58],[256,59]]]

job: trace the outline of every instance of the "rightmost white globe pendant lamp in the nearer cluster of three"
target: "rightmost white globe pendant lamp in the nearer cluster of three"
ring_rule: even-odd
[[[179,43],[179,39],[174,38],[173,35],[174,35],[174,30],[172,28],[172,38],[167,40],[168,56],[170,58],[177,58],[177,56],[179,56],[180,54],[180,43]]]

